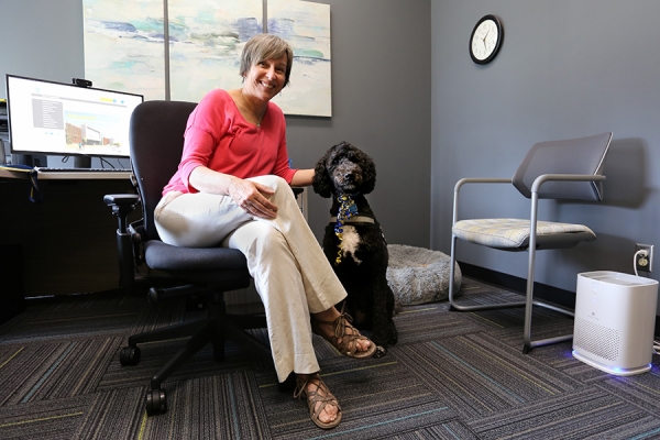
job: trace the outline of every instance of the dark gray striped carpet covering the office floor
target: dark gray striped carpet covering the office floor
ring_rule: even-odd
[[[462,297],[512,293],[463,279]],[[491,296],[492,297],[492,296]],[[199,318],[183,301],[151,306],[119,294],[32,300],[0,327],[2,439],[652,439],[660,438],[660,359],[648,373],[605,374],[571,343],[521,353],[522,309],[464,314],[447,302],[404,307],[399,343],[356,361],[315,339],[322,376],[343,408],[320,430],[302,402],[280,393],[274,371],[228,343],[205,348],[165,383],[169,410],[146,417],[144,394],[180,341],[141,346],[119,363],[127,338]],[[535,338],[571,332],[572,319],[538,309]],[[257,333],[263,337],[262,333]]]

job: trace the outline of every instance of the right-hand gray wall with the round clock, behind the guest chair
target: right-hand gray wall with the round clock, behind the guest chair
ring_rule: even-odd
[[[488,13],[505,29],[493,63],[477,66],[470,33]],[[536,142],[614,132],[605,201],[544,202],[585,222],[593,243],[539,253],[537,279],[575,290],[576,273],[632,273],[635,243],[660,244],[660,48],[656,0],[431,0],[431,246],[449,252],[452,188],[461,177],[510,177]],[[514,190],[474,191],[464,216],[528,216]],[[491,216],[491,213],[488,213]],[[660,249],[658,249],[660,251]],[[461,244],[460,260],[526,277],[526,254]],[[660,257],[660,252],[657,253]],[[656,271],[660,273],[660,260]]]

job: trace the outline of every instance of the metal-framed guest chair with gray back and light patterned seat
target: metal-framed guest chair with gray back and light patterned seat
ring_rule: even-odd
[[[532,306],[541,306],[562,314],[574,314],[556,305],[534,299],[536,251],[572,248],[582,241],[596,239],[595,233],[583,224],[549,222],[539,220],[539,199],[571,199],[602,201],[602,182],[605,180],[603,162],[612,133],[593,136],[549,141],[535,144],[510,179],[463,178],[454,187],[449,301],[458,311],[492,310],[525,307],[522,352],[573,338],[572,334],[531,340]],[[459,220],[459,193],[468,184],[513,184],[520,194],[531,199],[529,219],[466,219]],[[457,301],[454,264],[457,240],[488,248],[529,253],[527,263],[527,287],[524,301],[488,305],[461,305]]]

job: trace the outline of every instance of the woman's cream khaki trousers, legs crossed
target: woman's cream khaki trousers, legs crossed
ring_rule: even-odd
[[[224,245],[240,250],[264,304],[273,361],[279,382],[289,373],[318,372],[309,314],[345,298],[288,184],[277,176],[250,180],[275,190],[277,218],[245,213],[229,196],[167,194],[155,210],[161,239],[180,246]]]

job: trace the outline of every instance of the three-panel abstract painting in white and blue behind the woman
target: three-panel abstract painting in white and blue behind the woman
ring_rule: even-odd
[[[240,88],[241,51],[263,32],[266,2],[267,32],[294,48],[290,85],[274,102],[286,114],[332,114],[330,6],[168,0],[165,15],[163,1],[82,0],[85,75],[95,87],[141,94],[145,100],[169,94],[170,99],[187,101],[199,101],[213,88]]]

